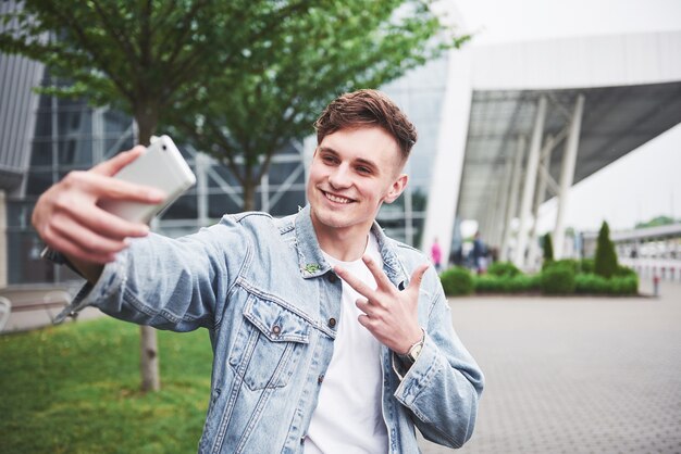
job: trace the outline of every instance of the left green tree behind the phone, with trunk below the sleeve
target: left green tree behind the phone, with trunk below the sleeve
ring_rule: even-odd
[[[0,15],[0,51],[45,63],[57,81],[46,93],[86,97],[133,115],[138,142],[149,144],[171,109],[193,105],[207,80],[237,68],[243,49],[270,40],[280,18],[308,2],[25,0]],[[159,389],[149,327],[141,327],[141,370],[143,390]]]

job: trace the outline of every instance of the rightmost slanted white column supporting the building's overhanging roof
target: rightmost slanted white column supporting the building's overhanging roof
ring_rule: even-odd
[[[579,94],[574,102],[572,119],[570,121],[570,133],[566,141],[562,166],[560,167],[560,193],[558,194],[558,209],[554,229],[554,256],[557,260],[562,257],[565,243],[565,211],[568,204],[568,191],[574,180],[574,165],[577,163],[583,111],[584,94]]]

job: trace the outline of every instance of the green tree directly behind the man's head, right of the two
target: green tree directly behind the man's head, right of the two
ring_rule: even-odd
[[[331,1],[278,26],[271,39],[242,50],[244,66],[225,67],[171,122],[173,135],[231,169],[247,211],[272,156],[309,136],[332,99],[386,84],[468,39],[418,0]]]

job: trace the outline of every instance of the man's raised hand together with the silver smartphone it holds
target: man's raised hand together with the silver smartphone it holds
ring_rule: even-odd
[[[151,217],[195,181],[163,136],[149,149],[135,147],[87,172],[71,172],[40,196],[32,223],[48,247],[94,282],[126,239],[146,236]]]

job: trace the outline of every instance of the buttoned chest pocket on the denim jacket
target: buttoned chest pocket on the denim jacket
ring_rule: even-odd
[[[282,388],[309,342],[310,325],[275,301],[250,294],[230,366],[251,390]]]

